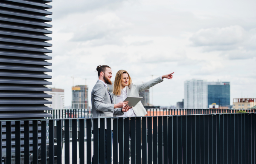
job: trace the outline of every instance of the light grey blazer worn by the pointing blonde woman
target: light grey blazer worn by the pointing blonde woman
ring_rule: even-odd
[[[126,87],[126,91],[127,91],[127,97],[140,97],[139,94],[140,92],[149,89],[150,87],[153,87],[154,85],[163,82],[161,77],[158,77],[156,79],[152,79],[148,82],[144,82],[142,84],[139,85],[135,85],[134,83],[131,83],[130,85],[128,85],[128,87]],[[113,93],[111,93],[111,96],[113,97],[114,100],[114,104],[116,104],[116,98],[117,96],[114,95]],[[138,102],[137,105],[135,105],[135,107],[132,107],[132,109],[134,110],[134,113],[136,114],[136,116],[145,116],[147,114],[147,111],[145,110],[145,107],[143,107],[141,102]]]

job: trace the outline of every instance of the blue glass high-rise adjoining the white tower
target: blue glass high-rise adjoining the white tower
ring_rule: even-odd
[[[208,82],[208,105],[230,106],[230,82]]]

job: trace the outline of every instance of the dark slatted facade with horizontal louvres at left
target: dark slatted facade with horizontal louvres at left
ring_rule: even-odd
[[[26,119],[51,117],[44,110],[51,104],[44,98],[51,95],[45,85],[52,72],[47,47],[52,40],[46,34],[52,19],[47,11],[52,0],[1,0],[0,1],[0,119]]]

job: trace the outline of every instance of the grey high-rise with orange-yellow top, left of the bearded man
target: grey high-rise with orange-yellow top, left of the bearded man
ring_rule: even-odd
[[[72,108],[88,108],[88,88],[87,85],[76,85],[72,87]]]

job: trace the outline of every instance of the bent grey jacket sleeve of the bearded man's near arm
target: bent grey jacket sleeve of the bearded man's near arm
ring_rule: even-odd
[[[113,112],[114,111],[114,105],[113,104],[105,104],[104,103],[104,92],[103,86],[97,88],[94,90],[93,96],[94,96],[94,107],[97,111],[104,111],[104,112]]]

